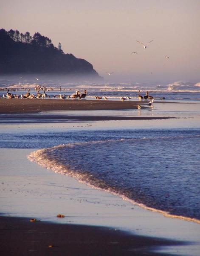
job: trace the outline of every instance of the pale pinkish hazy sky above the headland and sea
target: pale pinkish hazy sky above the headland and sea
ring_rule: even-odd
[[[0,26],[60,41],[105,79],[200,81],[200,0],[0,0]]]

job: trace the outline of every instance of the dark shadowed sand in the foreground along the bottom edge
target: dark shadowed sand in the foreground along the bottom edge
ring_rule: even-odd
[[[6,256],[169,255],[152,252],[177,241],[136,236],[114,228],[30,222],[0,217],[0,252]],[[183,243],[182,243],[183,244]]]

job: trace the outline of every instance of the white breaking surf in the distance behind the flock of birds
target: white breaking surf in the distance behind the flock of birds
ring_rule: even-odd
[[[53,89],[58,89],[59,86],[63,90],[68,89],[87,89],[87,90],[97,90],[97,91],[153,91],[153,92],[200,92],[200,82],[183,82],[175,81],[170,84],[149,84],[149,83],[67,83],[63,81],[51,81],[51,80],[39,80],[39,81],[12,81],[12,80],[1,80],[0,87],[3,88],[34,88],[36,85],[41,85],[45,87],[52,87]]]

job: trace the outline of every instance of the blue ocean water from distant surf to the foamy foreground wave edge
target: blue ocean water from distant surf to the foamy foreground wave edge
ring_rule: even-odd
[[[139,89],[142,94],[148,90],[155,101],[165,99],[144,111],[52,112],[55,115],[173,116],[176,119],[110,121],[111,125],[101,122],[99,126],[96,122],[95,127],[47,127],[27,131],[23,127],[16,128],[22,121],[20,115],[17,119],[13,115],[9,129],[1,134],[1,148],[37,148],[28,158],[54,172],[74,177],[146,209],[200,221],[199,83],[179,82],[150,88],[135,84],[61,85],[61,93],[65,95],[72,94],[75,89],[87,89],[86,100],[94,99],[95,95],[107,96],[110,100],[119,100],[121,96],[136,100]],[[61,85],[45,83],[45,87],[53,89],[47,92],[48,95],[58,94]],[[19,84],[4,82],[0,96],[6,93],[5,87],[14,88],[15,93],[31,88],[35,93],[34,86],[26,83],[19,87]],[[164,104],[165,101],[180,104]],[[37,115],[45,115],[42,122],[48,119],[48,113]],[[4,116],[0,115],[1,125],[6,124]]]

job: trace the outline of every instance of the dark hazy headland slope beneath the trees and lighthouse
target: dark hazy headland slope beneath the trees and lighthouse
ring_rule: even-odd
[[[36,41],[14,41],[0,29],[0,74],[51,73],[99,77],[92,64],[72,54],[64,54],[53,44],[40,46]]]

